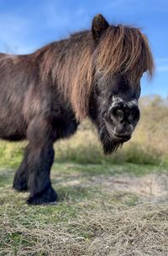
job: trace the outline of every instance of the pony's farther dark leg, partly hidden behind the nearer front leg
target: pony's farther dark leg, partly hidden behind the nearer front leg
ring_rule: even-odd
[[[29,148],[26,147],[24,152],[24,159],[20,164],[17,172],[14,175],[13,189],[18,191],[26,191],[28,189],[28,155]]]

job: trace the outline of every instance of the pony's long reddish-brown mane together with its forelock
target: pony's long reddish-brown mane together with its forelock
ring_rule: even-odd
[[[41,54],[37,51],[36,54]],[[91,31],[71,35],[44,48],[41,75],[51,73],[76,113],[82,120],[88,114],[88,103],[92,92],[94,75],[122,73],[133,86],[139,82],[143,72],[153,74],[154,62],[148,40],[139,29],[118,25],[109,26],[99,43],[95,44]]]

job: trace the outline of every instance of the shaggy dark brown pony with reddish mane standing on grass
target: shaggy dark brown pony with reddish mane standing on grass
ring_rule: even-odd
[[[104,153],[130,139],[144,72],[153,72],[145,35],[109,25],[100,14],[91,30],[33,54],[0,54],[0,137],[29,141],[13,182],[14,189],[29,189],[29,204],[57,199],[50,183],[53,143],[74,134],[86,116],[97,126]]]

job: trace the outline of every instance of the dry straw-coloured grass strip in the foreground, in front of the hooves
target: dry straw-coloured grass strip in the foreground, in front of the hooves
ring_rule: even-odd
[[[8,234],[8,239],[0,255],[167,256],[168,205],[83,206],[80,216],[70,221],[36,221],[34,226],[29,216],[24,216],[29,224],[23,225],[4,213],[1,234]],[[19,215],[22,218],[22,212]]]

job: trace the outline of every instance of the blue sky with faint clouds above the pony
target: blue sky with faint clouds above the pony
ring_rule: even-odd
[[[30,53],[80,29],[95,14],[111,24],[138,26],[155,56],[155,77],[142,79],[142,94],[168,96],[167,0],[0,0],[0,51]]]

